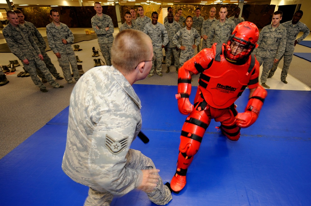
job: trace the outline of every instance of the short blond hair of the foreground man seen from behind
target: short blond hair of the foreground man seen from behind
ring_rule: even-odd
[[[125,29],[114,38],[111,48],[111,63],[115,68],[131,73],[140,62],[149,61],[151,38],[142,31]]]

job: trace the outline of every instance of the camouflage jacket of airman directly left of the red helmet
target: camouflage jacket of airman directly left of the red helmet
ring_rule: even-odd
[[[234,28],[234,21],[230,19],[226,19],[223,26],[220,26],[220,20],[214,21],[210,27],[209,34],[207,35],[207,47],[211,47],[215,42],[218,44],[227,43]]]

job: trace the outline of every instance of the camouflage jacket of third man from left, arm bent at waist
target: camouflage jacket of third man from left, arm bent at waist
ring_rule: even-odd
[[[60,29],[55,24],[46,25],[46,37],[48,38],[49,47],[54,54],[70,54],[73,51],[71,44],[73,43],[73,34],[66,24],[60,23]],[[62,39],[67,41],[67,44],[62,42]]]

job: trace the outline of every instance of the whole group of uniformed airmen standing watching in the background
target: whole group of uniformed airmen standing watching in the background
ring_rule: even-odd
[[[107,65],[111,65],[111,47],[114,40],[114,25],[110,16],[102,13],[103,8],[100,2],[94,3],[96,15],[92,17],[91,24],[98,37],[98,44]],[[166,73],[169,73],[171,60],[174,61],[176,72],[178,69],[194,56],[195,48],[197,52],[204,48],[211,48],[213,43],[225,43],[228,41],[235,26],[244,21],[239,17],[241,9],[236,7],[234,16],[227,18],[227,6],[222,6],[219,11],[220,18],[215,18],[216,8],[211,7],[209,17],[204,20],[200,16],[200,8],[197,8],[195,16],[182,16],[182,9],[179,8],[174,14],[172,7],[168,7],[168,15],[164,19],[164,25],[158,22],[158,13],[153,12],[151,19],[144,15],[142,6],[138,6],[136,11],[130,9],[125,12],[125,23],[123,23],[119,31],[124,29],[137,29],[145,32],[152,40],[154,57],[152,59],[152,69],[148,77],[156,73],[162,75],[162,48],[165,49],[166,56]],[[286,77],[288,69],[294,54],[294,47],[309,35],[309,28],[299,20],[303,12],[296,11],[291,21],[280,24],[282,12],[276,11],[272,15],[272,24],[262,28],[258,40],[258,48],[253,53],[256,55],[260,65],[263,65],[261,75],[261,83],[265,88],[270,88],[267,84],[267,78],[274,75],[279,61],[284,56],[284,64],[281,72],[281,81],[287,84]],[[74,51],[71,47],[73,43],[73,34],[66,24],[59,22],[58,11],[52,9],[50,18],[53,20],[51,24],[46,26],[47,38],[50,48],[58,58],[59,66],[62,68],[65,80],[68,83],[74,83],[70,72],[74,79],[79,79],[77,61]],[[42,92],[47,92],[42,82],[49,82],[53,87],[59,86],[52,77],[63,79],[56,71],[51,63],[49,56],[45,52],[46,44],[43,37],[35,28],[35,26],[24,21],[23,13],[20,10],[8,11],[7,19],[9,24],[3,29],[4,37],[7,44],[14,55],[16,55],[23,63],[24,68],[29,72],[32,81],[40,88]],[[26,28],[24,28],[24,26]],[[304,34],[296,39],[299,32]],[[202,39],[202,46],[201,46]],[[172,58],[171,58],[172,56]],[[43,60],[39,61],[39,59]],[[31,61],[29,61],[31,60]],[[44,64],[42,64],[44,63]],[[38,78],[38,76],[42,79]]]

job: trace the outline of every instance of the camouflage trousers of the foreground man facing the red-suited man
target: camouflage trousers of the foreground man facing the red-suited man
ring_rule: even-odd
[[[139,170],[156,169],[152,160],[138,150],[129,149],[126,159],[125,167]],[[151,202],[158,205],[165,205],[172,199],[171,192],[167,186],[163,185],[161,177],[156,188],[146,194]],[[114,195],[108,191],[96,191],[90,188],[84,206],[109,206],[113,197]]]

